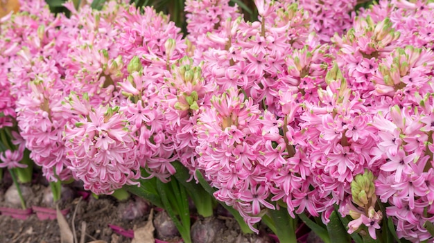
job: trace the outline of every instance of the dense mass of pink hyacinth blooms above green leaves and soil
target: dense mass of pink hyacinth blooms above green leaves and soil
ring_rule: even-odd
[[[1,19],[0,128],[19,135],[0,167],[25,145],[50,181],[110,194],[173,183],[180,161],[254,232],[339,213],[355,242],[390,223],[432,241],[433,3],[255,3],[249,22],[186,1],[185,38],[153,8],[22,3]]]

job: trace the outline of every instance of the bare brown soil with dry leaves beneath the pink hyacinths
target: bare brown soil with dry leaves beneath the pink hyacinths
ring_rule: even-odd
[[[41,179],[41,177],[38,175],[35,175],[35,178],[36,179],[31,185],[26,185],[31,189],[25,198],[26,205],[28,207],[47,207],[47,205],[44,205],[44,190],[47,190],[49,184],[44,179]],[[12,180],[6,173],[5,177],[0,180],[0,206],[10,207],[10,205],[6,204],[5,202],[5,193],[10,186],[12,186]],[[69,208],[69,213],[65,215],[65,219],[67,220],[72,231],[74,230],[72,226],[75,226],[78,240],[80,240],[80,237],[83,234],[83,232],[81,232],[81,228],[83,226],[83,222],[85,222],[85,242],[103,240],[107,243],[129,243],[132,241],[130,237],[125,237],[114,232],[112,228],[110,228],[109,224],[120,226],[125,230],[133,230],[134,228],[139,228],[146,225],[150,208],[154,208],[154,225],[156,225],[155,222],[157,222],[156,218],[158,218],[158,215],[164,213],[162,212],[161,208],[155,208],[143,201],[140,203],[142,208],[139,210],[140,213],[137,213],[137,210],[130,210],[128,213],[125,213],[125,208],[130,208],[128,205],[137,205],[137,201],[141,199],[137,199],[136,197],[132,196],[130,199],[128,199],[128,201],[119,202],[111,196],[101,196],[96,199],[92,197],[92,195],[86,199],[83,199],[80,197],[80,195],[83,195],[83,193],[80,192],[84,192],[83,185],[80,185],[80,183],[71,183],[68,185],[68,187],[70,189],[69,191],[72,191],[73,193],[69,193],[69,197],[62,200],[62,203],[59,204],[59,208],[60,210]],[[86,192],[84,194],[86,194]],[[89,195],[88,192],[87,195]],[[74,212],[76,212],[75,218],[73,217]],[[229,215],[227,210],[221,206],[216,208],[214,215],[216,216],[203,219],[202,217],[196,215],[194,211],[192,211],[191,234],[193,239],[195,238],[194,234],[196,234],[196,236],[197,234],[202,234],[199,235],[199,237],[196,237],[196,239],[202,239],[200,240],[200,243],[275,242],[275,240],[272,240],[272,237],[270,237],[270,230],[263,225],[259,226],[261,231],[259,235],[243,235],[236,220]],[[173,224],[173,222],[171,223]],[[157,224],[162,223],[157,222]],[[157,232],[158,227],[155,228],[156,230],[154,231],[154,237],[160,240],[159,242],[182,242],[179,233],[175,232],[175,235],[162,237],[161,232]],[[168,226],[165,226],[165,231],[167,228]],[[201,228],[202,231],[200,230]],[[1,243],[60,242],[60,228],[57,220],[40,220],[35,214],[31,215],[31,217],[28,217],[26,220],[13,219],[12,217],[6,215],[0,215],[0,229]],[[302,228],[302,231],[306,233],[300,232],[301,235],[307,236],[309,229],[307,230],[308,231]],[[318,239],[318,237],[315,237],[314,234],[310,234],[309,239],[307,241],[302,240],[302,242],[313,243],[321,241]]]

